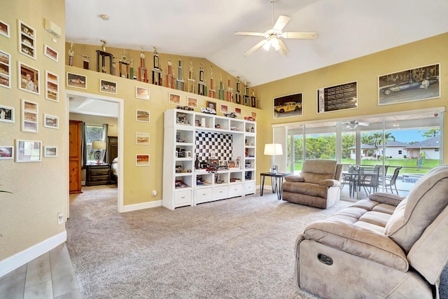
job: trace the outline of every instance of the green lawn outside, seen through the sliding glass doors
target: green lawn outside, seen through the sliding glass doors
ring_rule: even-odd
[[[342,159],[342,164],[351,164],[355,165],[356,160],[353,159]],[[374,166],[374,165],[380,165],[382,160],[362,160],[361,165],[367,165],[367,166]],[[300,164],[297,164],[300,163]],[[302,170],[302,160],[297,161],[296,164],[294,164],[294,171],[298,172]],[[439,160],[428,160],[424,159],[421,162],[421,166],[417,167],[417,159],[386,159],[386,162],[384,165],[388,165],[388,174],[392,174],[394,167],[403,167],[400,171],[400,173],[408,172],[408,173],[414,173],[414,174],[426,174],[431,168],[436,167],[439,165]],[[288,167],[288,171],[289,171]]]

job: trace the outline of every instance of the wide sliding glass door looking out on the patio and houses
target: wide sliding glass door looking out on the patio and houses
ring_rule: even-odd
[[[378,165],[385,190],[400,167],[393,188],[406,195],[419,177],[442,163],[442,123],[442,111],[425,111],[290,126],[288,171],[299,174],[303,158]]]

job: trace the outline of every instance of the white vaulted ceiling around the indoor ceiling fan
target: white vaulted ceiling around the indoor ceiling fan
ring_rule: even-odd
[[[109,20],[99,18],[101,14]],[[447,0],[276,0],[283,32],[318,32],[315,40],[283,39],[290,55],[262,48],[263,38],[235,36],[272,27],[270,0],[66,0],[66,41],[202,57],[251,86],[302,74],[448,32]],[[409,66],[412,67],[412,66]]]

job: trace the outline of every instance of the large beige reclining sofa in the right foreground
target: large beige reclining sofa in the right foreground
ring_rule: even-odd
[[[448,165],[407,197],[373,193],[296,240],[300,288],[323,298],[439,298],[448,261]]]

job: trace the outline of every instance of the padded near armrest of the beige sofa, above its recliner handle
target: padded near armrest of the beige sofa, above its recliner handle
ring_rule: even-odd
[[[405,252],[391,238],[376,230],[346,223],[343,219],[311,223],[297,237],[296,242],[303,239],[314,239],[321,244],[403,272],[409,268]]]

